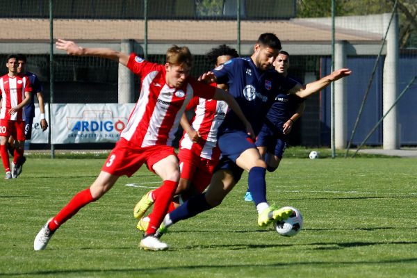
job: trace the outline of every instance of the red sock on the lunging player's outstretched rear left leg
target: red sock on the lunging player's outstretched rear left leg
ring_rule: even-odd
[[[49,229],[55,231],[64,224],[65,221],[72,218],[72,216],[77,213],[83,206],[90,202],[94,202],[95,199],[92,198],[90,188],[87,188],[83,191],[77,193],[71,201],[60,210],[60,212],[55,215],[51,222],[49,222]]]

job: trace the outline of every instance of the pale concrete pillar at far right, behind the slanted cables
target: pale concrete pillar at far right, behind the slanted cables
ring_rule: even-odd
[[[391,15],[384,15],[384,26],[388,26]],[[394,104],[398,95],[398,15],[395,13],[389,31],[386,35],[386,56],[384,61],[384,81],[383,81],[383,115]],[[398,140],[398,108],[395,106],[386,115],[383,122],[383,148],[400,149]]]

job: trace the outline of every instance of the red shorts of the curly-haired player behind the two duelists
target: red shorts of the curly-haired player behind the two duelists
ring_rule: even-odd
[[[188,179],[193,186],[202,193],[210,184],[215,165],[218,160],[202,158],[190,151],[190,149],[180,149],[178,153],[179,168],[181,169],[181,179]]]

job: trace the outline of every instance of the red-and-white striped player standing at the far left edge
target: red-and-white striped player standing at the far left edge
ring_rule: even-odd
[[[27,76],[17,73],[17,55],[7,58],[8,74],[0,77],[1,109],[0,109],[0,151],[1,161],[6,170],[5,179],[17,178],[17,161],[23,156],[24,149],[24,110],[23,107],[31,101],[31,81]],[[9,137],[17,139],[13,162],[8,156]]]

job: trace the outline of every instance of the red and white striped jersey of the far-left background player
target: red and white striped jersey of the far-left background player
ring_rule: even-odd
[[[0,77],[1,109],[0,119],[24,120],[24,109],[10,115],[8,111],[24,100],[24,92],[31,92],[31,81],[28,76],[17,75],[10,77],[5,74]]]

